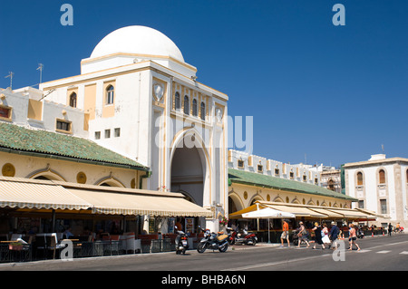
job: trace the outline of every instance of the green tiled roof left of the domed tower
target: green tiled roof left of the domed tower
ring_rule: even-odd
[[[46,130],[29,130],[0,121],[0,149],[34,155],[49,155],[55,159],[82,160],[99,165],[148,170],[140,163],[105,149],[91,140]],[[15,151],[13,151],[15,150]]]

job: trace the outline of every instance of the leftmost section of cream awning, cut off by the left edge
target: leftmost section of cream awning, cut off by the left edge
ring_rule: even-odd
[[[0,180],[0,207],[81,210],[92,204],[49,181],[4,177]]]

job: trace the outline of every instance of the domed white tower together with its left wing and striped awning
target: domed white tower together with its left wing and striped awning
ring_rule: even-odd
[[[76,223],[81,234],[79,223],[106,229],[100,221],[113,217],[136,234],[171,233],[174,223],[217,231],[228,206],[228,96],[196,73],[166,35],[129,26],[103,38],[80,75],[2,89],[3,228],[91,220]],[[53,200],[53,189],[68,199]]]

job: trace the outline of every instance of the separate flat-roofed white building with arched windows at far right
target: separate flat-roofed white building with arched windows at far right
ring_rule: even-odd
[[[358,199],[358,207],[384,216],[376,226],[408,226],[408,159],[378,154],[344,168],[346,194]]]

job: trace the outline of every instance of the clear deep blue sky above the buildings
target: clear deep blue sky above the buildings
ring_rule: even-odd
[[[60,7],[73,5],[73,26]],[[332,24],[345,5],[345,26]],[[381,153],[408,158],[408,1],[2,1],[0,87],[80,73],[113,30],[150,26],[254,117],[253,153],[338,166]]]

